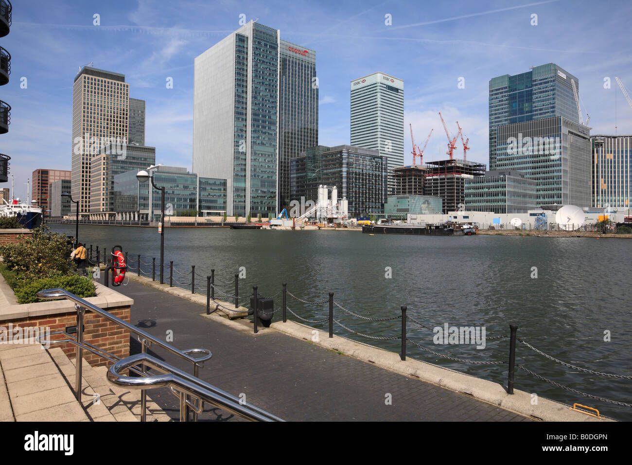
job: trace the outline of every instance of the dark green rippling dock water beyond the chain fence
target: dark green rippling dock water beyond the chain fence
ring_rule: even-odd
[[[51,225],[73,234],[73,225]],[[129,256],[142,255],[142,270],[151,273],[151,259],[160,257],[155,228],[80,225],[88,247],[120,244]],[[168,228],[165,261],[181,272],[195,264],[196,282],[205,290],[210,269],[219,279],[232,279],[240,267],[240,294],[274,295],[281,283],[306,301],[334,300],[356,313],[386,318],[408,315],[434,328],[485,326],[487,337],[518,337],[566,363],[595,371],[632,375],[632,241],[626,239],[541,238],[478,235],[475,237],[369,236],[360,232],[264,231],[228,228]],[[131,260],[130,260],[131,262]],[[130,266],[135,266],[134,262]],[[385,268],[391,267],[392,278]],[[537,267],[537,278],[532,278]],[[166,278],[169,273],[166,271]],[[179,276],[190,283],[190,276]],[[225,287],[233,294],[234,287]],[[123,289],[123,292],[125,290]],[[275,307],[281,306],[281,296]],[[309,306],[288,296],[288,306],[309,319],[322,319],[327,305]],[[334,307],[334,317],[367,335],[389,337],[400,331],[400,320],[372,322]],[[275,320],[280,319],[275,315]],[[290,316],[290,318],[292,318]],[[324,328],[325,325],[313,325]],[[368,344],[399,352],[398,340],[368,340],[334,331]],[[604,332],[611,341],[604,341]],[[485,349],[469,345],[436,345],[434,333],[408,323],[408,337],[441,354],[475,361],[505,361],[509,340],[487,340]],[[212,349],[212,347],[210,348]],[[408,355],[506,385],[506,366],[474,366],[434,356],[408,344]],[[582,373],[554,363],[518,344],[516,363],[564,386],[632,404],[631,380]],[[588,399],[518,370],[515,387],[567,404],[597,407],[602,414],[632,420],[632,408]]]

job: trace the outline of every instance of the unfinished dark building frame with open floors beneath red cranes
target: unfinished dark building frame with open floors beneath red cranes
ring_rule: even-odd
[[[487,166],[476,161],[447,159],[421,166],[401,166],[394,170],[396,195],[441,197],[443,213],[465,206],[465,180],[485,175]]]

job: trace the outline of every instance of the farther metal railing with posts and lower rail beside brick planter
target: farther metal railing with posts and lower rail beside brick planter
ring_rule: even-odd
[[[210,353],[210,350],[208,349],[187,349],[187,350],[176,349],[176,347],[173,347],[173,345],[169,345],[166,342],[162,342],[161,340],[153,337],[149,333],[137,328],[136,326],[130,325],[130,323],[127,323],[123,319],[120,319],[117,316],[114,316],[111,313],[93,304],[90,304],[90,302],[85,301],[81,297],[77,297],[75,294],[71,294],[70,292],[62,288],[40,290],[37,293],[37,297],[39,297],[40,299],[47,299],[47,300],[58,299],[59,297],[64,297],[65,299],[68,299],[69,301],[75,304],[75,309],[77,311],[76,337],[73,337],[73,335],[65,331],[56,331],[56,332],[50,333],[50,336],[64,335],[66,338],[62,340],[50,340],[50,339],[46,341],[39,340],[39,342],[41,344],[70,343],[76,346],[77,349],[76,349],[76,363],[75,363],[75,389],[76,389],[75,395],[79,402],[81,402],[81,392],[82,392],[83,349],[90,350],[90,352],[93,352],[94,354],[104,357],[114,363],[116,363],[117,361],[120,361],[119,357],[115,356],[114,354],[111,354],[110,352],[107,352],[107,350],[100,349],[99,347],[89,344],[88,342],[85,342],[83,340],[83,314],[85,313],[85,310],[90,310],[93,313],[96,313],[99,316],[102,316],[103,318],[109,321],[112,321],[112,323],[116,323],[116,325],[121,326],[121,328],[128,330],[130,333],[135,334],[138,338],[138,342],[140,342],[141,344],[142,353],[146,353],[147,349],[149,349],[149,347],[151,347],[152,344],[155,344],[158,347],[161,347],[162,349],[165,349],[168,352],[171,352],[171,354],[174,354],[190,362],[191,364],[193,364],[193,376],[195,376],[196,378],[198,376],[198,370],[200,369],[200,367],[204,367],[204,362],[210,359],[210,357],[212,357],[212,354]],[[202,356],[191,357],[191,354],[202,354]],[[137,371],[137,373],[139,375],[146,376],[145,366],[142,365],[140,368],[140,371]],[[200,407],[201,406],[202,404],[200,404]],[[197,411],[193,412],[193,421],[197,421],[197,413],[198,413]],[[147,418],[147,392],[143,390],[143,392],[141,393],[140,420],[146,421],[146,418]],[[186,418],[187,419],[189,418],[188,408],[186,410]]]

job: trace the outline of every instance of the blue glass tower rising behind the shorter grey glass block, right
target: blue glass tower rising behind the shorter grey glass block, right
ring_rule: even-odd
[[[579,80],[555,63],[534,66],[526,73],[502,75],[489,82],[489,169],[497,163],[498,128],[504,125],[562,116],[579,123],[573,84]]]

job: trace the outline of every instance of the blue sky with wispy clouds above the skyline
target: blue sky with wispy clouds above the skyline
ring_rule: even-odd
[[[91,61],[125,74],[130,96],[147,101],[145,144],[156,147],[157,162],[190,169],[193,59],[240,27],[240,15],[316,51],[320,144],[349,143],[349,81],[382,71],[404,80],[406,163],[408,123],[418,145],[434,128],[425,161],[444,158],[437,111],[454,134],[461,124],[468,159],[488,163],[490,78],[549,62],[578,77],[592,133],[615,125],[632,133],[632,108],[614,80],[632,89],[626,1],[16,1],[11,33],[0,39],[11,53],[0,99],[13,108],[0,151],[12,158],[16,195],[25,199],[37,168],[70,170],[72,85]]]

